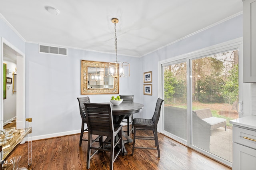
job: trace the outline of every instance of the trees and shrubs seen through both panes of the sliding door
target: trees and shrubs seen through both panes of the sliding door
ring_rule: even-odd
[[[186,63],[164,68],[165,104],[186,103]],[[238,102],[238,50],[192,61],[192,101],[229,103],[235,109]]]

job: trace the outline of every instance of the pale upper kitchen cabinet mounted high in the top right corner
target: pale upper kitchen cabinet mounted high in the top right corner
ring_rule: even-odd
[[[243,0],[243,81],[256,83],[256,0]]]

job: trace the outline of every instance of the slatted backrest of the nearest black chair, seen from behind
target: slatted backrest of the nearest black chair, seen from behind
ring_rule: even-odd
[[[109,103],[84,103],[88,130],[113,134],[113,115]]]

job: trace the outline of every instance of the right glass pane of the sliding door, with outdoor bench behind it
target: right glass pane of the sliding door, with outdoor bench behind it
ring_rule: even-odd
[[[232,162],[238,118],[238,51],[192,59],[192,145]]]

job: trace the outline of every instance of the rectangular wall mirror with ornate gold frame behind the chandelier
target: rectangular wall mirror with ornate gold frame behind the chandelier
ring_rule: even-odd
[[[81,60],[81,95],[119,93],[119,79],[104,77],[104,63]]]

